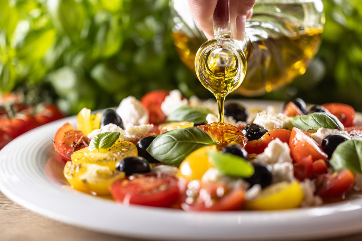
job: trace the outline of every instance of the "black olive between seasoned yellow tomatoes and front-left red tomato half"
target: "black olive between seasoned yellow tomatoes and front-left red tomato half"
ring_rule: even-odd
[[[126,176],[132,175],[133,173],[146,173],[151,171],[150,165],[142,156],[123,158],[115,164],[115,169],[125,172]]]

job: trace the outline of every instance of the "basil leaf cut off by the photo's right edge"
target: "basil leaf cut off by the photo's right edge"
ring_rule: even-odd
[[[329,163],[334,171],[349,169],[353,173],[362,173],[362,138],[354,138],[338,145]]]

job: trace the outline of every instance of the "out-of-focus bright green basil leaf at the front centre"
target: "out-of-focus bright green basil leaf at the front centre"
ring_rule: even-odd
[[[208,151],[207,154],[214,167],[227,176],[251,177],[254,174],[253,165],[240,156],[220,151]]]

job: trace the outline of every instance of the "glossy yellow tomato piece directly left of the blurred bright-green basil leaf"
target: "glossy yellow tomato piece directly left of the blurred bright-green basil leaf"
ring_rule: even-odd
[[[209,162],[207,151],[216,151],[215,145],[204,146],[186,156],[178,168],[178,177],[185,178],[188,181],[201,180],[205,172],[212,167]]]

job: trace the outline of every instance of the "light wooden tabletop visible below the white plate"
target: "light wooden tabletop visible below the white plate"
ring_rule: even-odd
[[[1,241],[141,241],[73,227],[36,214],[9,200],[0,192]],[[361,241],[362,233],[321,241]]]

